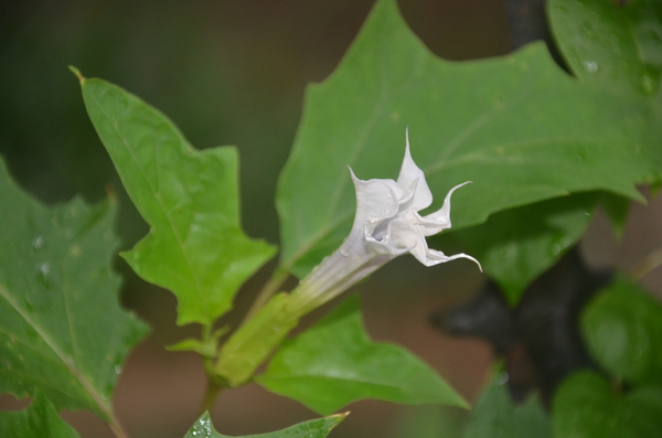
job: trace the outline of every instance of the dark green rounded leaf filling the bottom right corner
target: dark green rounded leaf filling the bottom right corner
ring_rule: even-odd
[[[552,418],[556,437],[659,437],[662,389],[640,387],[619,395],[600,375],[581,371],[557,389]]]

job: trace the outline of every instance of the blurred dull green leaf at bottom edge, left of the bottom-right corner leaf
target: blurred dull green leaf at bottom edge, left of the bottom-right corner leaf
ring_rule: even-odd
[[[537,396],[523,405],[513,403],[504,384],[492,383],[476,405],[465,438],[548,438],[549,419]]]

